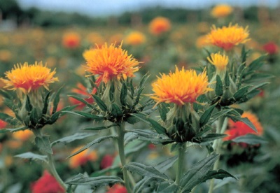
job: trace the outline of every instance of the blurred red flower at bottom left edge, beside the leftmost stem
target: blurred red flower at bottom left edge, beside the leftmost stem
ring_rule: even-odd
[[[64,188],[59,185],[55,177],[48,171],[43,172],[43,176],[31,184],[32,193],[64,193]]]

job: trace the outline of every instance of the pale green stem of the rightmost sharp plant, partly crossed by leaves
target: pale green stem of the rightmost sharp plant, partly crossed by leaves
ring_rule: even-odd
[[[223,134],[225,132],[225,129],[227,129],[228,126],[228,118],[227,117],[220,117],[218,119],[218,124],[217,124],[217,134]],[[216,139],[213,144],[214,152],[219,154],[221,151],[221,145],[222,145],[222,139]],[[213,167],[213,170],[218,169],[218,165],[220,164],[220,159],[218,159]],[[211,179],[210,185],[209,185],[209,191],[208,193],[212,193],[214,191],[214,179]]]

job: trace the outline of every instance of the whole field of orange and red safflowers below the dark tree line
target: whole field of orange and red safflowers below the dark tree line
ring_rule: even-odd
[[[0,31],[0,192],[278,192],[279,18],[233,9]]]

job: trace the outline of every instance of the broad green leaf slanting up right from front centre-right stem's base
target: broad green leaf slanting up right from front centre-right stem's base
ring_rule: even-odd
[[[210,155],[209,157],[197,162],[192,168],[183,175],[180,180],[181,192],[190,192],[193,187],[203,182],[204,176],[212,169],[219,155]]]

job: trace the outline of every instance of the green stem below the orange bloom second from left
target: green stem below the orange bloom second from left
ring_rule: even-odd
[[[125,144],[124,144],[124,137],[125,137],[125,122],[120,124],[120,128],[118,128],[118,153],[120,155],[120,163],[122,167],[125,166]],[[130,187],[130,180],[128,176],[128,171],[123,167],[123,180],[125,180],[125,187],[128,193],[132,193]]]

